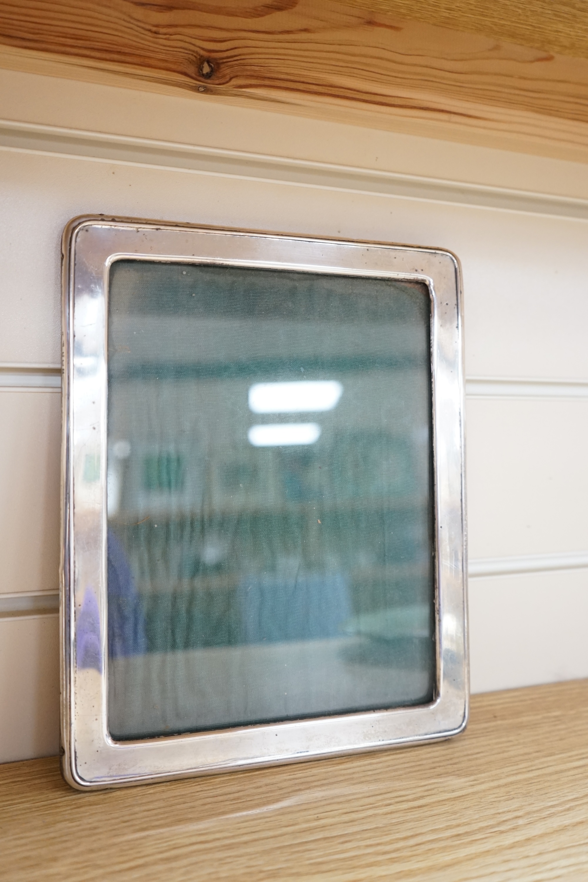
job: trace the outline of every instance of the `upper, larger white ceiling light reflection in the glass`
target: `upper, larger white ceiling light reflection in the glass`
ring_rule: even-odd
[[[343,386],[337,380],[256,383],[249,388],[249,409],[254,414],[315,413],[332,410],[342,393]]]

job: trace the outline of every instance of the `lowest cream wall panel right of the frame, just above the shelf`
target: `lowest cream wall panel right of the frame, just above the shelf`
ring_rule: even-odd
[[[588,569],[470,579],[473,692],[588,676]]]

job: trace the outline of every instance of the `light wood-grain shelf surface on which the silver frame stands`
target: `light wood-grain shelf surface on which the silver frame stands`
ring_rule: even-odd
[[[441,744],[78,793],[0,766],[6,880],[588,878],[588,681],[474,696]]]

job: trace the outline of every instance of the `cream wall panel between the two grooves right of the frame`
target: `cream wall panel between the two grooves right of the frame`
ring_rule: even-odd
[[[586,439],[588,399],[467,401],[471,560],[588,551]]]

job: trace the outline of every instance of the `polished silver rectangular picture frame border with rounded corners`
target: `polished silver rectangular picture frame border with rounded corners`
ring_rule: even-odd
[[[447,251],[152,221],[79,218],[63,234],[63,774],[78,789],[277,764],[435,740],[468,708],[461,283]],[[435,486],[435,700],[359,712],[115,742],[108,733],[107,302],[115,260],[287,269],[428,286]],[[97,480],[83,480],[91,457]],[[78,667],[76,624],[93,593],[94,667]]]

